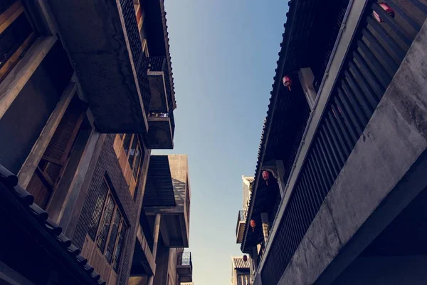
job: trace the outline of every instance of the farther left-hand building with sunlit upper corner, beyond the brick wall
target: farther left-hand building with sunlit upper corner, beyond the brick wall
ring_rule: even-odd
[[[130,271],[133,285],[192,281],[191,187],[186,155],[152,155]],[[147,283],[148,282],[148,283]]]

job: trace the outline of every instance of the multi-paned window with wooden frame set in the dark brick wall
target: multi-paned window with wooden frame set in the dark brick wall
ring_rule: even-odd
[[[107,185],[107,181],[104,180],[102,182],[102,187],[105,187],[105,185]],[[100,217],[100,219],[98,219],[98,217]],[[127,224],[125,219],[123,219],[122,213],[115,202],[110,188],[108,188],[102,212],[100,213],[99,209],[95,209],[93,224],[96,219],[99,221],[95,238],[97,250],[99,250],[108,264],[110,264],[112,269],[117,273],[123,245],[125,243]]]

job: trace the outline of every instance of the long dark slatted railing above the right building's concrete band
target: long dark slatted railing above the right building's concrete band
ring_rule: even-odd
[[[292,190],[261,278],[277,284],[426,19],[418,0],[370,1]],[[393,11],[393,12],[391,12]],[[416,15],[416,16],[415,16]],[[420,16],[422,15],[422,16]]]

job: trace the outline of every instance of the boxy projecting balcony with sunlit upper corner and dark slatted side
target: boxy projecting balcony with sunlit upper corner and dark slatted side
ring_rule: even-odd
[[[154,224],[161,214],[160,232],[165,246],[189,246],[190,185],[186,155],[152,155],[142,202]]]

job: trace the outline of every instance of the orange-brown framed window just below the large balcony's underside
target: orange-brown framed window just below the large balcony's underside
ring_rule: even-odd
[[[114,149],[127,185],[129,185],[130,193],[132,197],[135,197],[141,163],[144,160],[144,149],[138,135],[116,135]]]

